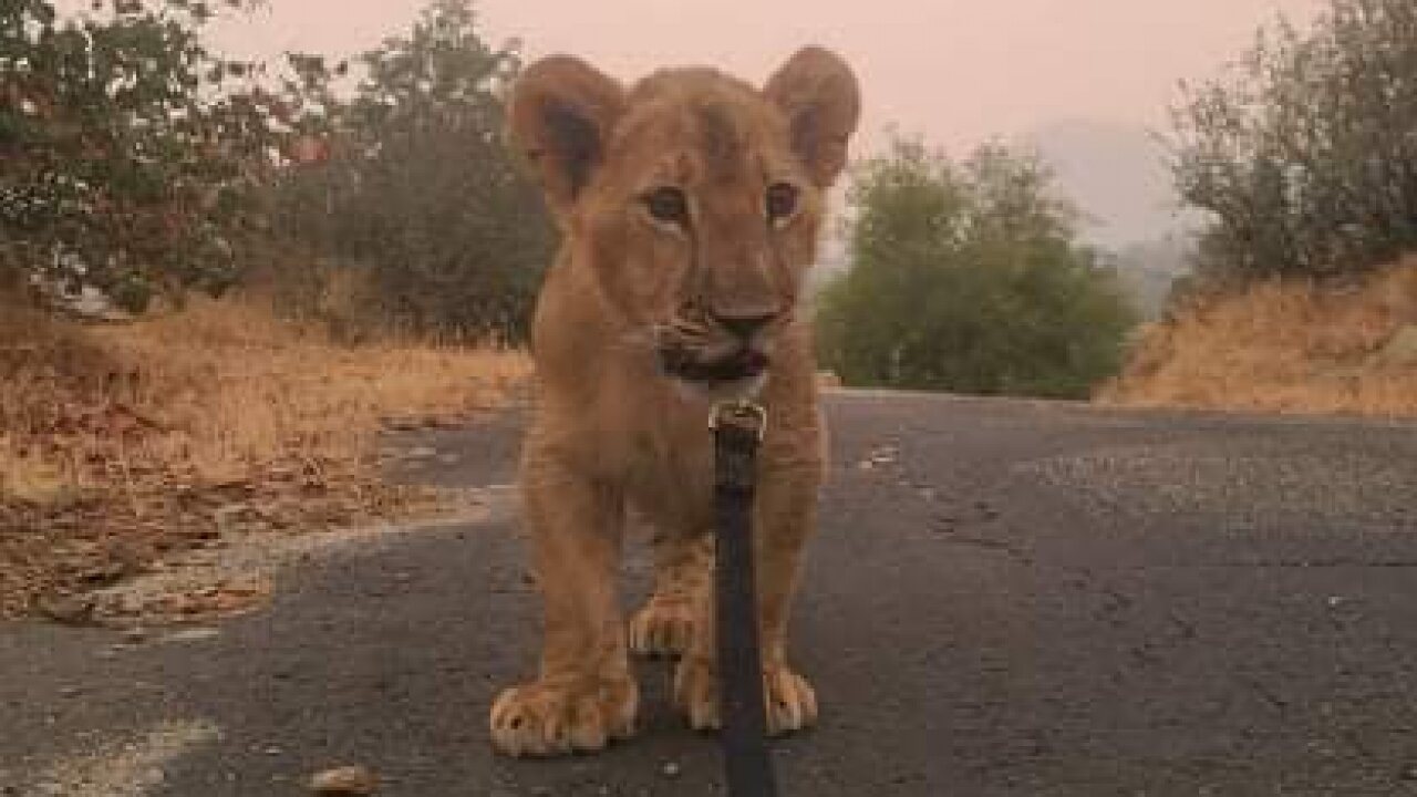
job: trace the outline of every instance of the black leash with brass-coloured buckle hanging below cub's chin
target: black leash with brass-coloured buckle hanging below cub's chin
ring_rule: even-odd
[[[718,701],[728,797],[777,797],[762,695],[762,651],[752,567],[752,501],[758,444],[768,416],[751,401],[717,404],[714,437],[714,564]]]

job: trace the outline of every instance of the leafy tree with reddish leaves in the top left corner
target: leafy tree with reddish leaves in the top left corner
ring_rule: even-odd
[[[0,282],[85,282],[133,309],[231,284],[279,138],[255,67],[201,41],[244,1],[0,3]]]

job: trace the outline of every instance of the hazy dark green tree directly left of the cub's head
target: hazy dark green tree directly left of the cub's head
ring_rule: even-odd
[[[323,64],[296,65],[319,95]],[[367,268],[373,312],[402,329],[520,340],[555,233],[503,140],[516,44],[489,47],[466,0],[438,0],[356,67],[356,96],[307,115],[329,157],[286,186],[286,233]]]

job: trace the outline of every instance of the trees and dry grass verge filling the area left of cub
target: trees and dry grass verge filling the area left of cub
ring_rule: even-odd
[[[381,430],[526,374],[555,241],[502,146],[516,51],[458,0],[347,61],[208,50],[247,6],[0,9],[0,615],[435,511]]]

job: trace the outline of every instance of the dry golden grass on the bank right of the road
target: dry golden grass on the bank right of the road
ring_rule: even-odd
[[[1264,284],[1144,330],[1101,401],[1270,413],[1417,416],[1417,367],[1382,350],[1417,323],[1417,260],[1360,286]]]

